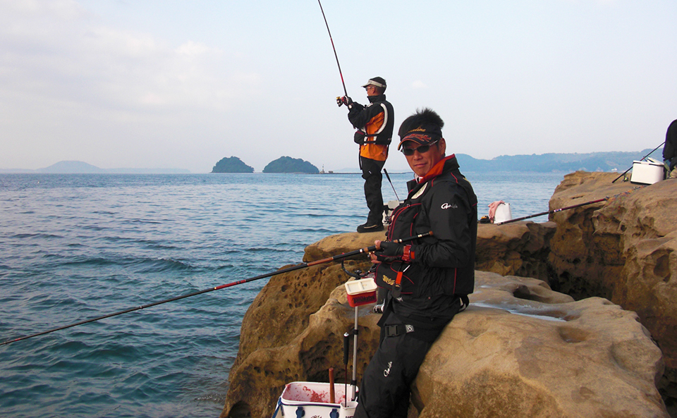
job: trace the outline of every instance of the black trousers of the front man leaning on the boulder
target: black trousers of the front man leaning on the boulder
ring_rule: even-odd
[[[390,315],[389,324],[401,323]],[[411,383],[432,345],[413,334],[382,338],[362,377],[355,418],[407,417]]]

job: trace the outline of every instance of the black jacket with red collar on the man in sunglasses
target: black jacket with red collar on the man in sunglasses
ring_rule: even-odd
[[[410,262],[378,264],[377,284],[392,290],[397,273],[402,272],[394,313],[401,319],[443,325],[458,311],[449,306],[451,302],[467,297],[475,287],[477,197],[454,155],[418,182],[410,181],[408,188],[407,199],[391,216],[388,240],[428,231],[433,235],[412,242]]]

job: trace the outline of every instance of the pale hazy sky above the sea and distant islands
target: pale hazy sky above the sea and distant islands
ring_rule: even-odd
[[[677,119],[675,0],[324,0],[348,95],[448,152],[640,151]],[[0,0],[0,168],[357,168],[319,2]],[[406,168],[391,146],[386,169]],[[461,167],[461,169],[463,169]]]

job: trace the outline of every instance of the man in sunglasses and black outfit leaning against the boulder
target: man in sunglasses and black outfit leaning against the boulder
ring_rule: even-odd
[[[393,211],[388,240],[371,254],[376,282],[387,290],[381,340],[360,385],[356,418],[407,417],[410,386],[446,324],[468,306],[475,285],[477,197],[446,156],[444,122],[423,109],[405,119],[398,135],[415,173],[409,195]],[[432,231],[408,245],[392,242]],[[453,407],[453,405],[452,405]]]

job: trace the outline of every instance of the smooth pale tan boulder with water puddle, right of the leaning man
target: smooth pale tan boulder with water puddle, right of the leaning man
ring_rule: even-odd
[[[634,312],[489,274],[422,364],[420,418],[669,416],[661,352]]]

